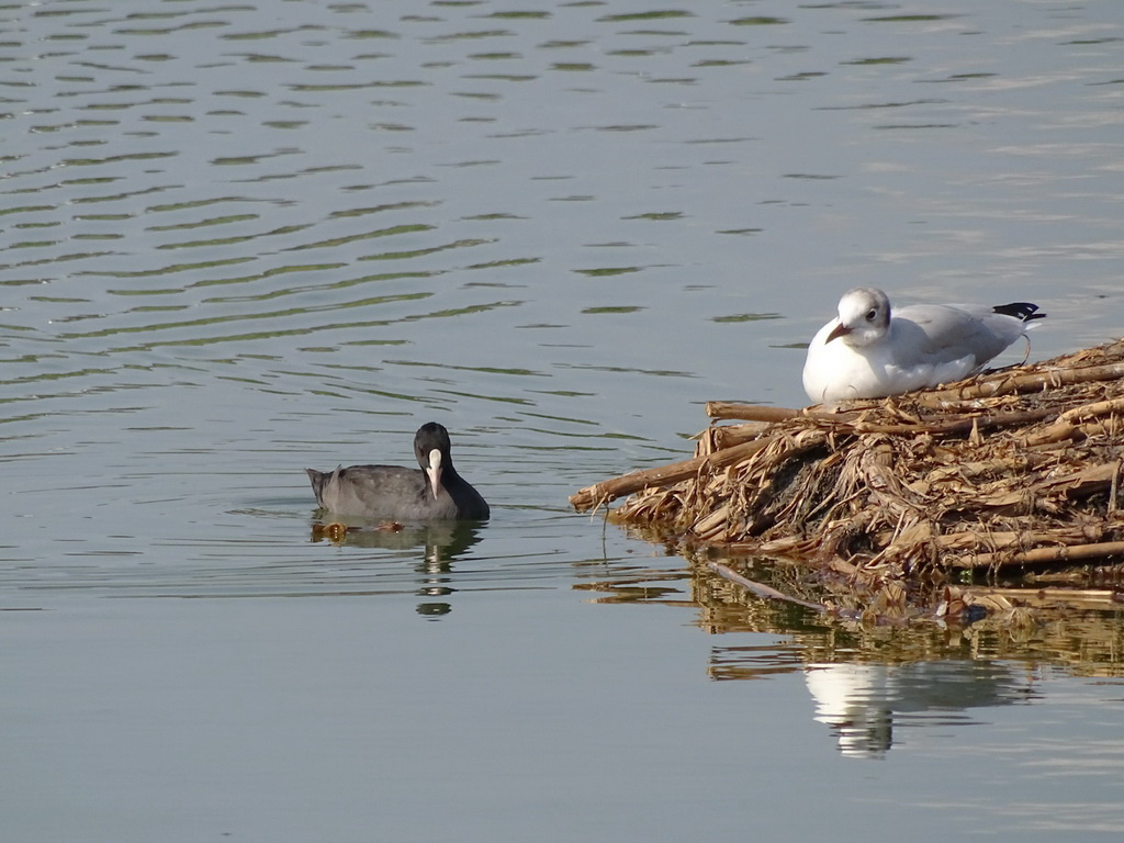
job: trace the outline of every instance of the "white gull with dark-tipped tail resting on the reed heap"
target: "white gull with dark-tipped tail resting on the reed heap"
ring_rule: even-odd
[[[816,402],[882,398],[979,372],[1045,314],[1026,301],[981,307],[910,305],[890,312],[873,287],[840,299],[839,317],[808,346],[804,389]]]

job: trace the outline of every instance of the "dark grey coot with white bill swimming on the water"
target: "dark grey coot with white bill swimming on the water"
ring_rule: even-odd
[[[488,502],[456,473],[448,432],[435,422],[414,436],[422,470],[400,465],[351,465],[335,471],[305,469],[317,502],[337,515],[389,520],[488,518]]]

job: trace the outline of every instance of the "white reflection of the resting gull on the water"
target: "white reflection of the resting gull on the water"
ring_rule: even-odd
[[[969,708],[1033,697],[1028,680],[996,662],[808,664],[804,678],[816,701],[816,720],[831,727],[840,751],[852,758],[883,756],[896,727],[970,725],[975,720],[963,714]]]

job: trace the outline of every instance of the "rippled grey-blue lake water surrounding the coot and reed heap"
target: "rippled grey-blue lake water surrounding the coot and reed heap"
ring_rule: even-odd
[[[26,841],[1117,840],[1124,624],[859,633],[578,516],[842,291],[1124,321],[1115,0],[0,4]],[[1017,359],[1017,355],[1016,355]],[[437,420],[492,504],[314,535]]]

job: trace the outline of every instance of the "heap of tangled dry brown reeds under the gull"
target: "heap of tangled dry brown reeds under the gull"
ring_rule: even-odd
[[[892,399],[710,404],[696,456],[596,483],[579,510],[854,580],[945,587],[964,569],[1124,561],[1124,341]],[[1085,577],[1084,584],[1088,584]],[[1104,592],[1108,605],[1115,590]]]

